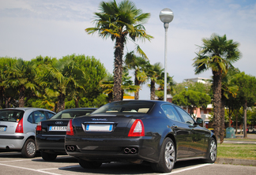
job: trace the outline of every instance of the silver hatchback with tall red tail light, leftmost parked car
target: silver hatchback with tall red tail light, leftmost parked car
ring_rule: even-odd
[[[55,113],[41,108],[17,107],[0,110],[0,149],[21,151],[23,157],[36,155],[36,125]]]

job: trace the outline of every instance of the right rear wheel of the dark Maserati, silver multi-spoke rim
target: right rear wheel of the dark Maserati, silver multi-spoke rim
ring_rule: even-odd
[[[152,163],[152,169],[157,173],[170,173],[175,166],[175,144],[171,138],[166,138],[160,151],[160,162]]]

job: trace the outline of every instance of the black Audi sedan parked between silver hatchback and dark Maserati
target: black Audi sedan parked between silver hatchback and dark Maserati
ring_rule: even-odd
[[[66,155],[64,148],[66,126],[70,119],[92,113],[96,108],[73,108],[62,110],[50,120],[41,121],[36,127],[36,147],[43,160],[55,160],[57,155]]]

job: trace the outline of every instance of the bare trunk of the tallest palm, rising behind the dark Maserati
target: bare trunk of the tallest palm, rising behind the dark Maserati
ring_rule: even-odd
[[[122,54],[124,47],[124,38],[116,38],[115,40],[115,63],[114,63],[114,101],[122,100]]]

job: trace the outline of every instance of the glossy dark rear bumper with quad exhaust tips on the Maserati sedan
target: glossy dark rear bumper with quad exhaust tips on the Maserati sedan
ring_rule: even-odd
[[[88,161],[111,162],[116,160],[159,161],[158,141],[143,136],[126,139],[67,139],[66,153]],[[70,149],[73,147],[73,149]]]

